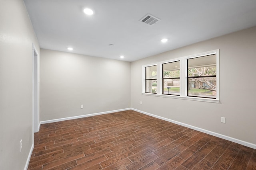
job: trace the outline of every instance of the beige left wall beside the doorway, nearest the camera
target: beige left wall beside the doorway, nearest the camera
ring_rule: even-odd
[[[24,2],[0,0],[1,170],[24,169],[30,156],[33,143],[32,43],[40,53]]]

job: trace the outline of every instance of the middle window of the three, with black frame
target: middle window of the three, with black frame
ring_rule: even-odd
[[[162,94],[180,95],[180,61],[163,64]]]

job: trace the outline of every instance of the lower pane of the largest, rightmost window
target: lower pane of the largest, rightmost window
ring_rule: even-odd
[[[188,78],[188,96],[216,98],[216,77]]]

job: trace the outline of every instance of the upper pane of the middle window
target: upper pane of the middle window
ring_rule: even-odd
[[[180,77],[180,61],[163,64],[163,78]]]

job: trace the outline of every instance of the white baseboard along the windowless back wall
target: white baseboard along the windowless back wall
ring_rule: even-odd
[[[80,116],[73,116],[73,117],[65,117],[65,118],[60,118],[60,119],[52,119],[52,120],[46,120],[46,121],[40,121],[41,124],[45,123],[53,123],[53,122],[58,122],[58,121],[64,121],[64,120],[72,120],[72,119],[79,119],[82,117],[90,117],[90,116],[95,116],[95,115],[103,115],[103,114],[108,114],[108,113],[114,113],[118,111],[126,111],[126,110],[131,110],[132,108],[126,108],[126,109],[118,109],[118,110],[112,110],[112,111],[104,111],[104,112],[99,112],[99,113],[92,113],[88,115],[80,115]]]

